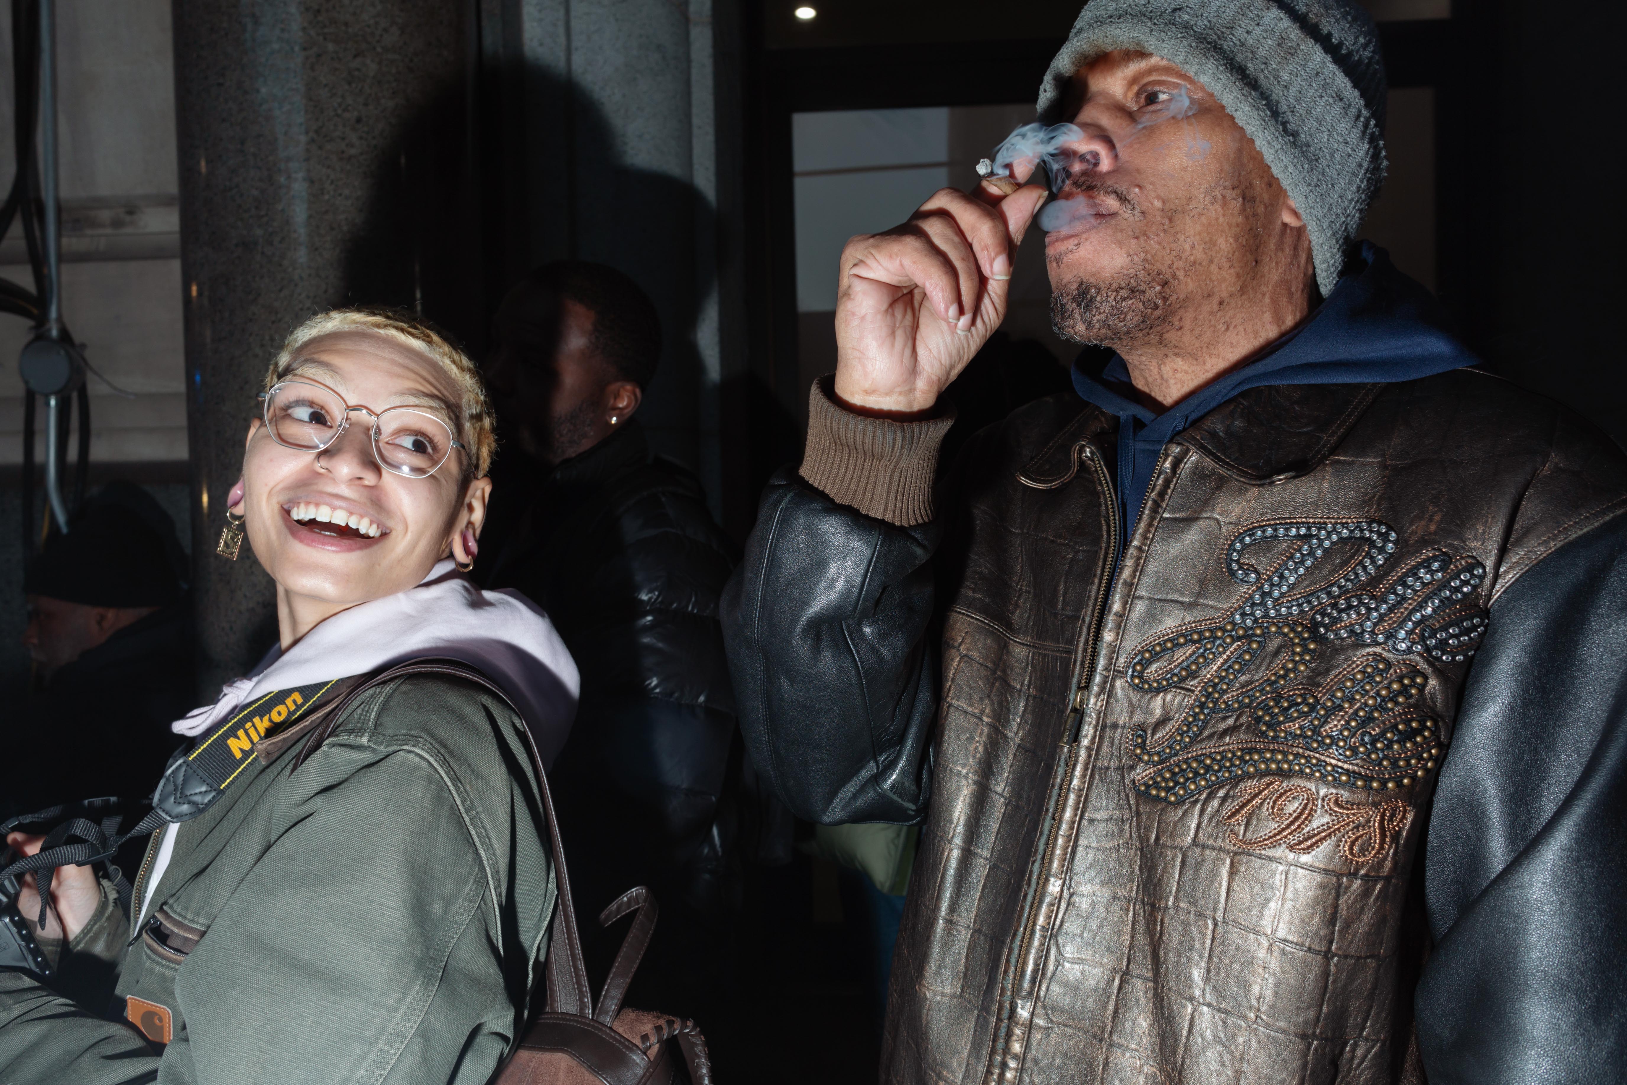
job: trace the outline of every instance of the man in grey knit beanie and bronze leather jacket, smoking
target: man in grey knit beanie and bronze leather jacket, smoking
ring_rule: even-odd
[[[1028,244],[1114,358],[942,478],[1046,189],[843,251],[724,628],[799,815],[923,821],[882,1080],[1619,1074],[1627,462],[1355,244],[1385,93],[1350,0],[1085,7]]]

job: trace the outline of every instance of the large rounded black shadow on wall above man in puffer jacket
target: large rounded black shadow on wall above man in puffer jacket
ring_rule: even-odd
[[[519,102],[470,109],[467,88],[443,89],[377,156],[334,304],[418,314],[478,361],[498,303],[529,268],[608,264],[661,312],[661,366],[639,416],[659,452],[693,468],[704,381],[695,333],[714,288],[716,213],[695,185],[626,166],[617,148],[604,111],[545,68],[526,67]]]

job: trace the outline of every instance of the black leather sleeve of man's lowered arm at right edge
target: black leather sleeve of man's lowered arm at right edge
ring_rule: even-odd
[[[1424,867],[1430,1085],[1619,1082],[1627,1067],[1627,517],[1492,607]]]

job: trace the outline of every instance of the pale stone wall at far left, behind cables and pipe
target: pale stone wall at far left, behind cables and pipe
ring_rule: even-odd
[[[0,21],[0,184],[15,172],[10,20]],[[62,312],[85,343],[91,462],[187,459],[169,0],[57,3]],[[23,231],[0,275],[31,286]],[[21,317],[0,316],[0,465],[23,459]],[[44,454],[44,426],[36,451]]]

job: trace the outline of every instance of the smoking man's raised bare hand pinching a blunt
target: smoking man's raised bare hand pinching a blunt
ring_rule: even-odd
[[[931,410],[1005,319],[1017,244],[1045,195],[1038,184],[1004,195],[988,181],[973,195],[940,189],[903,226],[848,241],[836,397],[869,412]]]

